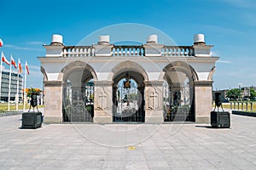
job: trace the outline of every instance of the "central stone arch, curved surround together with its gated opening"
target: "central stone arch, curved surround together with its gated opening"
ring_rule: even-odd
[[[113,122],[145,122],[144,82],[148,81],[148,74],[143,67],[126,60],[113,67],[108,80],[113,82]],[[132,86],[132,81],[136,85]],[[122,85],[125,82],[131,83],[129,90]],[[130,100],[130,94],[137,97]]]

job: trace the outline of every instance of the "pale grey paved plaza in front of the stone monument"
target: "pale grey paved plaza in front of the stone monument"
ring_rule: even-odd
[[[0,117],[0,169],[256,169],[256,118],[209,124],[43,124]]]

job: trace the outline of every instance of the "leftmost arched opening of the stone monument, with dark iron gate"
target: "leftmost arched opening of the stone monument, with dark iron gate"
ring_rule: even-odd
[[[63,122],[93,122],[94,72],[90,65],[73,62],[62,69]]]

